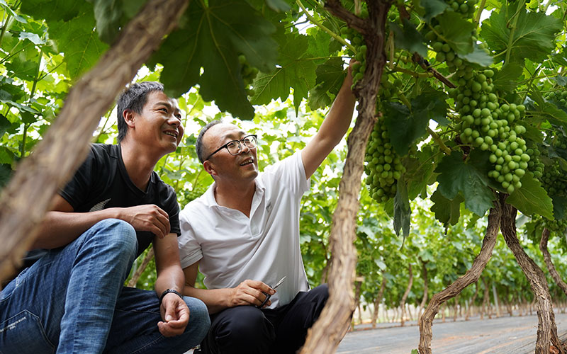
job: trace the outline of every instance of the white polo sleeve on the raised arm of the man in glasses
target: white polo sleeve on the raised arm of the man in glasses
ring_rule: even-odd
[[[264,173],[270,175],[269,180],[286,185],[298,197],[310,189],[310,179],[305,176],[305,167],[301,151],[286,157],[276,164],[266,167]],[[267,177],[267,176],[266,176]]]

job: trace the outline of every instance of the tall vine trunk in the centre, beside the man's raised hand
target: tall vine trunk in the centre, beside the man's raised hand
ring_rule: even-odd
[[[339,201],[332,218],[330,246],[332,263],[329,277],[329,299],[318,321],[309,329],[301,353],[335,353],[349,328],[354,312],[352,278],[357,261],[356,238],[359,193],[364,154],[370,133],[376,123],[376,95],[386,65],[384,29],[391,1],[368,3],[369,18],[363,20],[347,11],[339,0],[328,0],[325,8],[359,30],[366,42],[366,71],[357,82],[354,93],[359,99],[357,123],[347,141],[347,161],[339,184]]]

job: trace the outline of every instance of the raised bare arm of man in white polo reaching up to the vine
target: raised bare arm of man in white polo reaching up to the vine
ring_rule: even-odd
[[[356,98],[351,91],[352,62],[344,78],[341,89],[332,103],[331,109],[323,120],[319,131],[301,152],[305,176],[309,178],[318,169],[332,149],[339,144],[349,129]]]

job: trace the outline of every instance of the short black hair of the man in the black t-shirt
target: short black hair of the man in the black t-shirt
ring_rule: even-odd
[[[155,81],[142,81],[131,84],[120,93],[118,97],[118,107],[116,108],[116,118],[118,118],[118,142],[126,136],[128,125],[124,120],[125,110],[133,110],[135,113],[142,113],[142,109],[147,101],[148,93],[153,91],[164,91],[164,86]]]

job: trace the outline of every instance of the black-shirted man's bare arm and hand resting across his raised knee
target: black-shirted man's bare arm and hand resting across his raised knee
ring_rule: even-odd
[[[104,219],[121,219],[137,231],[153,232],[160,238],[169,234],[167,212],[157,205],[111,207],[96,212],[74,212],[72,205],[61,195],[55,195],[52,210],[47,212],[41,232],[30,249],[55,249],[77,239],[97,222]]]

